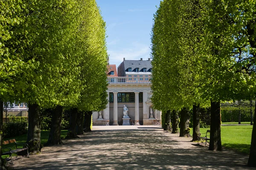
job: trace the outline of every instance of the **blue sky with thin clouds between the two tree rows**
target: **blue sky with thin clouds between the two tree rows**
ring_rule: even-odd
[[[107,26],[109,64],[150,58],[153,14],[160,0],[96,0]],[[156,7],[157,6],[157,7]]]

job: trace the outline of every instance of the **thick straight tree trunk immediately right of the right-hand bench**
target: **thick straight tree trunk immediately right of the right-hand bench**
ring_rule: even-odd
[[[211,101],[211,125],[210,125],[209,150],[221,151],[221,102]]]

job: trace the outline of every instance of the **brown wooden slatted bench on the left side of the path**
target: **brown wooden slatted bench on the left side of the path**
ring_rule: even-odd
[[[12,153],[17,153],[17,157],[18,157],[19,152],[22,152],[23,150],[27,150],[27,156],[29,157],[29,145],[28,144],[26,144],[26,143],[17,143],[15,139],[11,139],[11,140],[8,140],[8,141],[3,141],[3,144],[9,144],[9,143],[15,143],[16,149],[12,150],[12,148],[9,148],[9,147],[2,147],[1,149],[2,150],[3,149],[9,149],[9,151],[3,152],[2,155],[9,155],[9,158],[11,157],[12,164],[13,164]],[[23,148],[18,148],[17,144],[23,144]]]

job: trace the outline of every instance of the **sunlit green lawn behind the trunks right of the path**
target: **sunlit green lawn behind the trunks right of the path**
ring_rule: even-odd
[[[205,133],[207,130],[210,128],[200,128],[201,133]],[[252,130],[252,125],[221,126],[221,144],[226,149],[249,154]],[[191,129],[192,134],[193,129]]]

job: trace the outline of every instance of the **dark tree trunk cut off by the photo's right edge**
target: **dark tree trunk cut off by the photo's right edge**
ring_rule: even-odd
[[[255,99],[255,109],[254,109],[254,120],[256,116],[256,99]],[[256,167],[256,125],[253,124],[253,132],[252,132],[252,140],[250,146],[250,154],[248,159],[248,166],[249,167]]]

